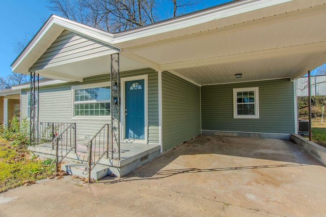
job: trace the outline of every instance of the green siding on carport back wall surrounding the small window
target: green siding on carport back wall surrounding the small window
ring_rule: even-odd
[[[259,87],[259,119],[233,118],[233,88]],[[202,130],[294,133],[293,82],[290,79],[201,87]]]

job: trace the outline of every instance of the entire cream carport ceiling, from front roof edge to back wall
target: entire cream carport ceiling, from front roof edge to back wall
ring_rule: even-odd
[[[295,79],[326,62],[325,2],[288,1],[115,45],[199,85]]]

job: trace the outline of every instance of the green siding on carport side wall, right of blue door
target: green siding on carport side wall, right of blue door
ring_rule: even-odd
[[[162,73],[162,145],[169,150],[200,134],[200,87]]]

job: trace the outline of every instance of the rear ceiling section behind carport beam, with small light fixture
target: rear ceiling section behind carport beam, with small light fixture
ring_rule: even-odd
[[[320,59],[326,59],[326,52],[317,54],[301,54],[287,57],[266,58],[259,60],[239,61],[237,63],[218,64],[186,69],[169,70],[180,77],[197,85],[271,80],[279,78],[296,78],[307,73],[306,62],[316,64]],[[320,64],[319,64],[320,65]],[[317,67],[308,66],[308,67]],[[235,74],[242,74],[236,78]]]

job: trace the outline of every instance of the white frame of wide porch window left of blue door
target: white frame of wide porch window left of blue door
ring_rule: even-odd
[[[89,115],[89,116],[75,116],[75,108],[74,105],[75,103],[75,90],[77,89],[87,89],[87,88],[94,88],[94,87],[104,87],[104,86],[110,86],[110,93],[111,93],[111,82],[110,81],[106,81],[106,82],[99,82],[99,83],[92,83],[92,84],[82,84],[82,85],[76,85],[76,86],[71,86],[71,118],[72,119],[103,119],[103,118],[107,118],[107,119],[111,119],[111,116],[105,116],[105,115],[99,115],[99,116],[95,116],[95,115]],[[111,94],[110,94],[110,99],[111,99]],[[88,103],[110,103],[111,100],[90,100],[87,101]]]

